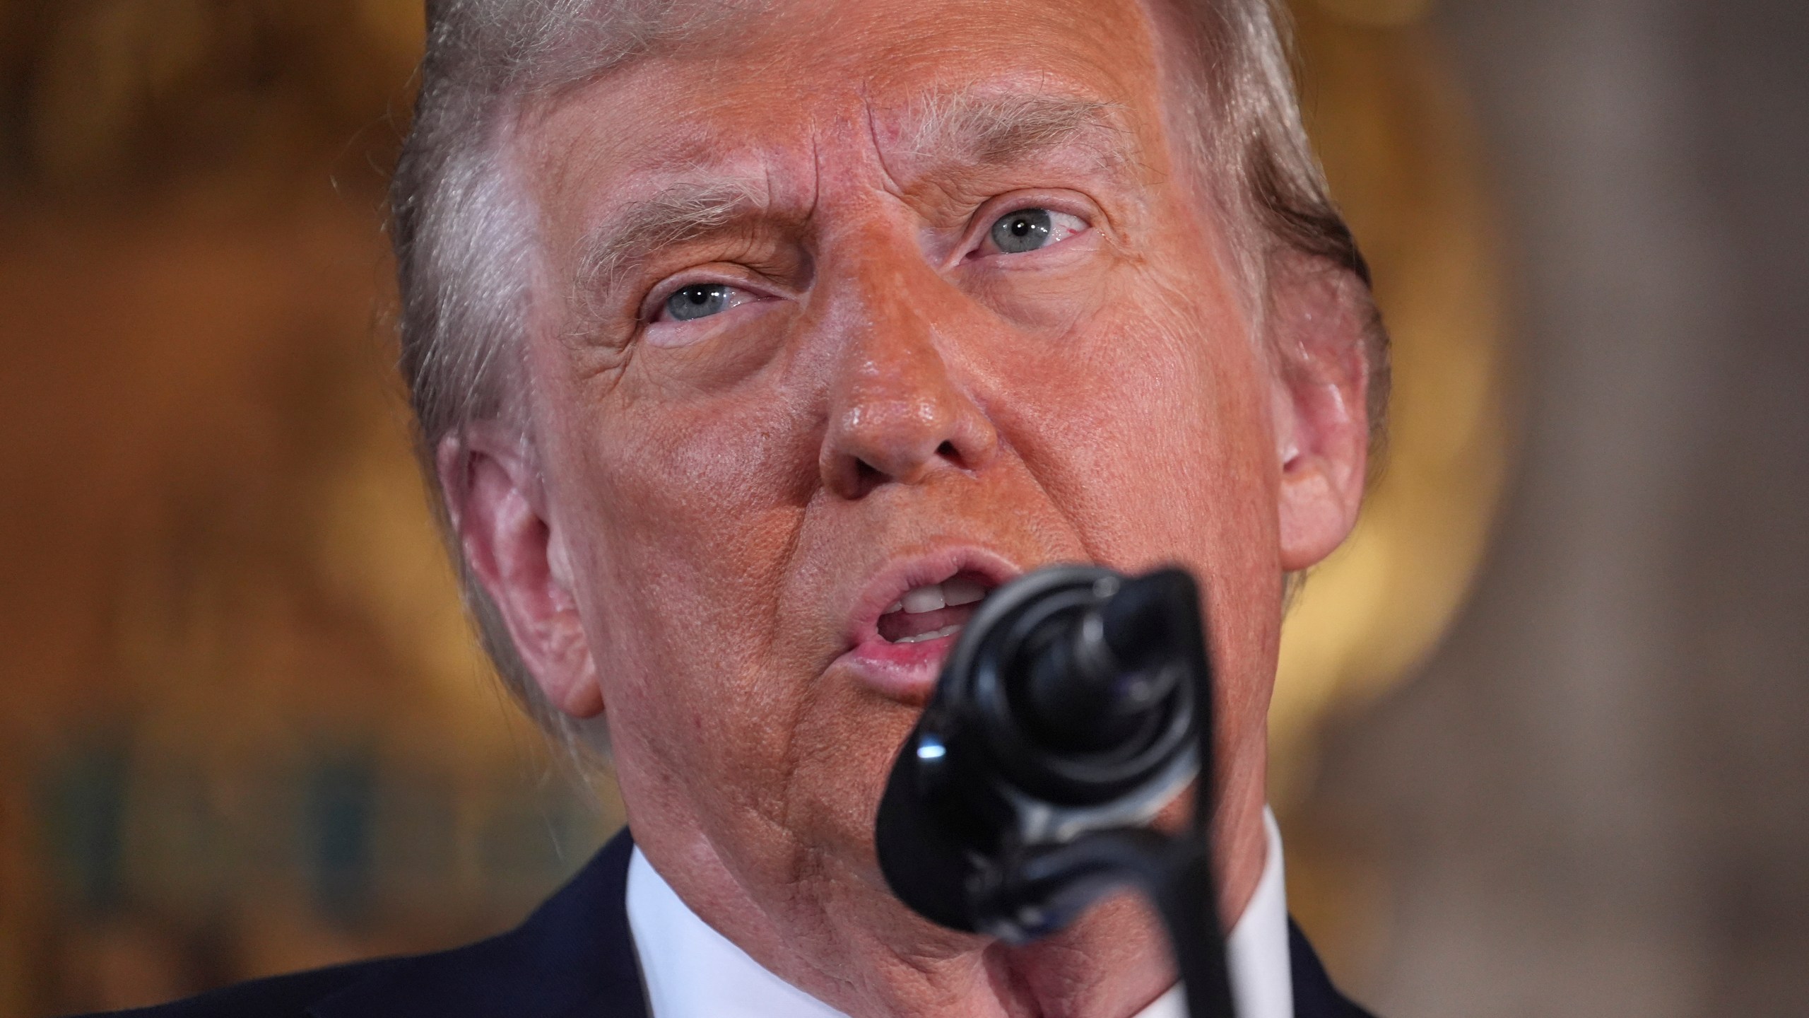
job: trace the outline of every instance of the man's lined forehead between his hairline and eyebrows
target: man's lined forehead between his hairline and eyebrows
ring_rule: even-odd
[[[1096,103],[1143,134],[1160,120],[1158,71],[1138,0],[780,0],[543,103],[530,161],[552,190],[733,163],[821,172],[836,149],[861,147],[908,170],[975,98]]]

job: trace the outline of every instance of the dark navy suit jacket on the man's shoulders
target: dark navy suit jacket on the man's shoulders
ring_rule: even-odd
[[[467,947],[248,982],[118,1018],[648,1018],[617,835],[519,927]],[[1293,1013],[1368,1018],[1290,924]]]

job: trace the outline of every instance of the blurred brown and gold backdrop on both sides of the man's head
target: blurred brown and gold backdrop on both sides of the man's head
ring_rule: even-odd
[[[1317,732],[1444,632],[1511,446],[1427,13],[1297,4],[1395,335],[1388,467],[1295,605],[1272,725],[1335,969],[1386,877],[1313,824]],[[0,1016],[469,940],[619,822],[503,703],[409,455],[382,188],[420,34],[418,0],[0,4]]]

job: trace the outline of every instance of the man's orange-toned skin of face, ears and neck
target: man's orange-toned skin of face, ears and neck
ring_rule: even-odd
[[[1109,1018],[1174,980],[1131,898],[1013,949],[886,891],[874,812],[935,661],[861,656],[876,578],[1192,569],[1227,920],[1261,875],[1283,576],[1355,520],[1366,379],[1326,274],[1283,272],[1252,335],[1163,16],[778,4],[535,107],[514,143],[543,230],[523,422],[440,449],[456,527],[548,697],[608,712],[653,866],[848,1014]],[[937,114],[975,96],[1085,116],[975,145]],[[709,228],[593,272],[622,216],[711,190],[740,197]],[[1055,239],[1000,250],[1022,208]],[[675,319],[698,284],[731,299]]]

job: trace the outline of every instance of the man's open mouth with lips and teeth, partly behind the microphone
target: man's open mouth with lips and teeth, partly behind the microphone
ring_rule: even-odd
[[[874,692],[921,706],[961,629],[1018,572],[977,549],[894,562],[868,583],[850,616],[841,661]]]

